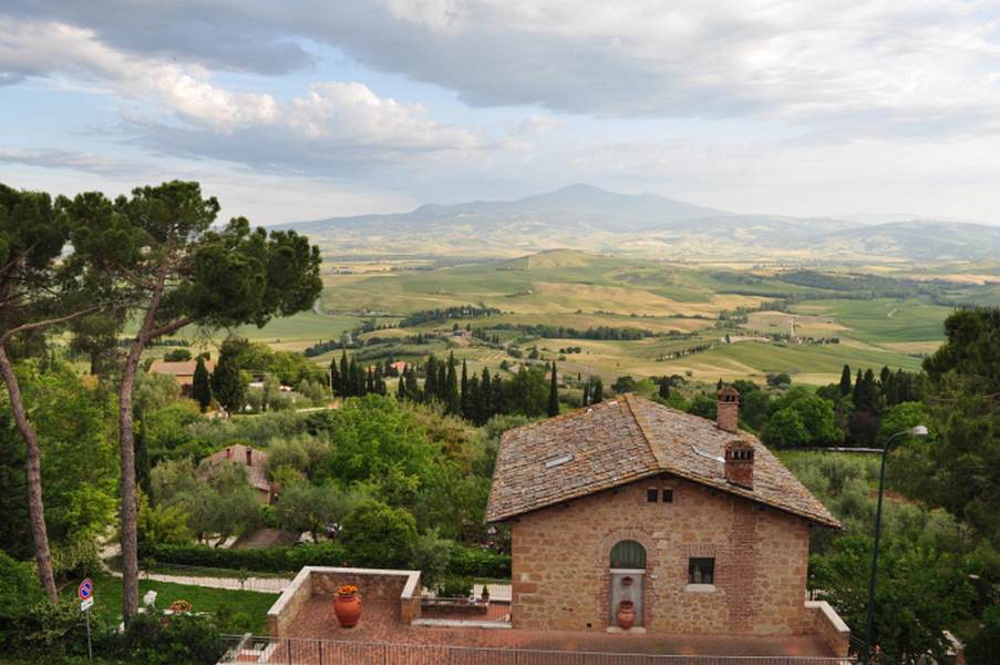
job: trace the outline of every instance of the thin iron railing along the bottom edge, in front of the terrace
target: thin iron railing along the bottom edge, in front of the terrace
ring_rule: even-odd
[[[683,656],[227,635],[223,664],[274,665],[854,665],[854,658]]]

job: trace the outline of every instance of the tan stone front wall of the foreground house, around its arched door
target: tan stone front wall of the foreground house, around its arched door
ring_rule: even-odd
[[[647,502],[648,489],[673,502]],[[662,491],[659,492],[662,497]],[[646,549],[643,625],[664,633],[812,632],[804,605],[805,520],[678,478],[650,479],[513,522],[513,622],[519,628],[614,625],[610,552]],[[714,584],[688,584],[688,560],[714,557]]]

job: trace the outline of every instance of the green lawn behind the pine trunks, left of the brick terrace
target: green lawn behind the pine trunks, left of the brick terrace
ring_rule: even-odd
[[[122,581],[111,575],[99,574],[94,580],[94,608],[112,621],[122,616]],[[75,597],[76,585],[80,580],[66,584],[62,594],[66,597]],[[250,617],[250,630],[260,633],[267,627],[267,611],[278,600],[278,594],[258,593],[255,591],[231,591],[228,589],[210,589],[206,586],[189,586],[186,584],[172,584],[168,582],[155,582],[140,580],[138,594],[142,598],[147,591],[157,593],[156,606],[167,607],[174,601],[187,601],[195,612],[217,613],[226,607],[230,613],[245,613]]]

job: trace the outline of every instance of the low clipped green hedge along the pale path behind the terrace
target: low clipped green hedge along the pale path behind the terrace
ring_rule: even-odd
[[[150,545],[140,552],[142,559],[156,563],[177,563],[260,573],[296,572],[305,565],[365,565],[351,561],[340,543],[301,544],[262,550],[220,550],[208,545]],[[492,550],[452,546],[449,574],[463,577],[507,579],[511,556]]]

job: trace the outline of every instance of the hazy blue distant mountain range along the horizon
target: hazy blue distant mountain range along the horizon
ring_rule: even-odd
[[[514,256],[556,247],[663,258],[1000,257],[1000,227],[945,219],[864,223],[742,215],[664,198],[570,185],[516,201],[427,204],[409,213],[280,225],[338,254]]]

